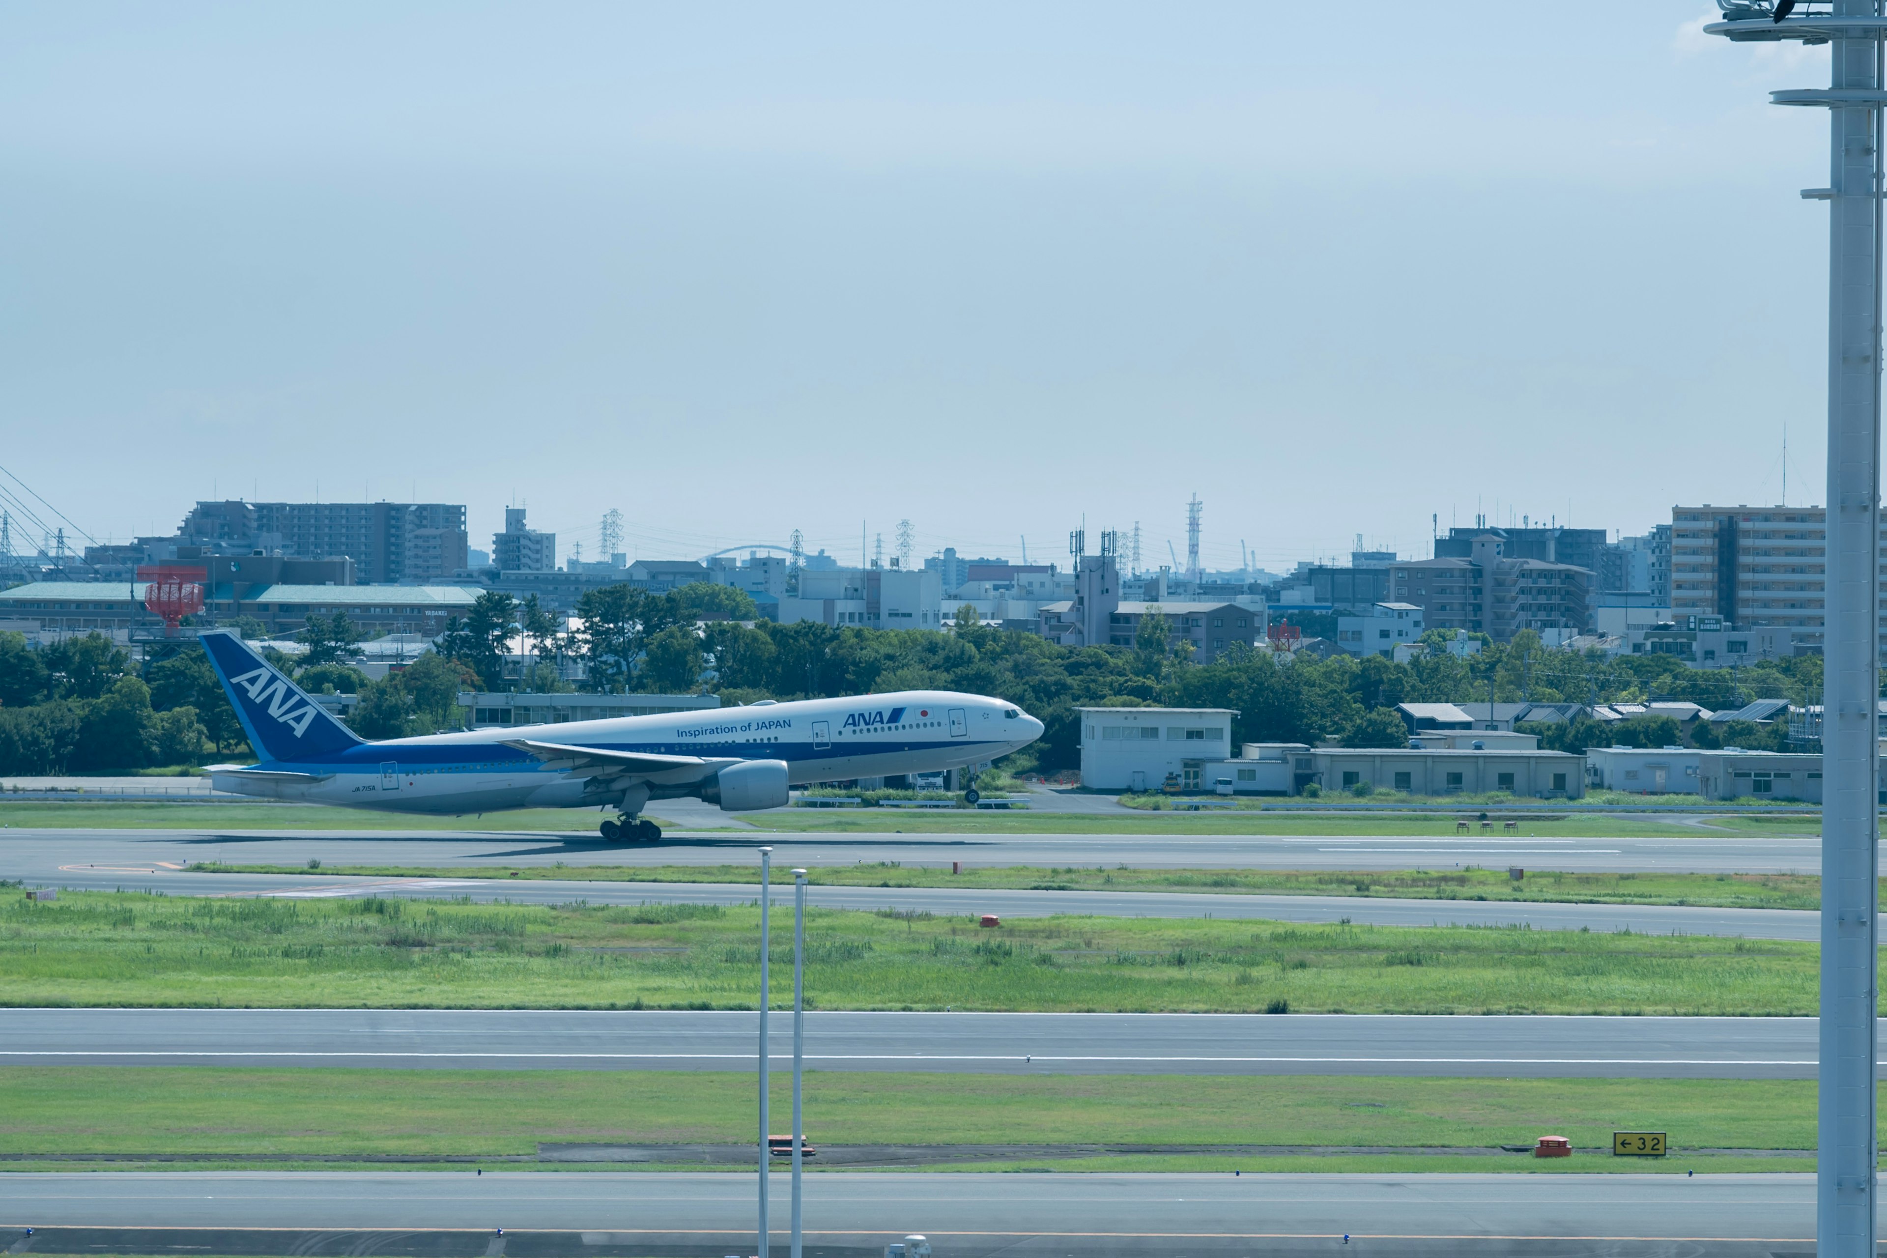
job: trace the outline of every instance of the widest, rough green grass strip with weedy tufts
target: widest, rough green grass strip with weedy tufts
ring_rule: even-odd
[[[772,956],[791,956],[776,915]],[[751,1007],[759,909],[0,900],[0,1003]],[[821,1009],[1808,1015],[1813,943],[811,911]]]

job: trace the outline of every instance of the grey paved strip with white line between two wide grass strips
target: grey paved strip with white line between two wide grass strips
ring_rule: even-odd
[[[8,1066],[721,1069],[757,1015],[568,1009],[9,1009]],[[791,1015],[772,1020],[791,1062]],[[806,1015],[813,1069],[1813,1079],[1815,1018],[1185,1013]]]

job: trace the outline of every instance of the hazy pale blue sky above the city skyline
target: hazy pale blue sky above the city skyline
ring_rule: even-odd
[[[643,556],[1821,502],[1827,62],[1712,11],[13,2],[0,462]]]

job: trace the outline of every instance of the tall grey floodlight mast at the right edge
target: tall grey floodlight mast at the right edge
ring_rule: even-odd
[[[1815,1252],[1872,1258],[1876,1075],[1874,703],[1881,445],[1881,0],[1717,0],[1736,41],[1832,45],[1827,89],[1770,92],[1829,111],[1829,541],[1823,637],[1821,1083]]]

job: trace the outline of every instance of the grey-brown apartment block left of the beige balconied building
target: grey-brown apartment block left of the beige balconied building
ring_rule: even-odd
[[[1421,607],[1427,628],[1468,630],[1495,641],[1510,641],[1523,628],[1549,641],[1591,632],[1595,573],[1574,564],[1510,558],[1506,545],[1506,538],[1489,530],[1474,539],[1466,558],[1396,564],[1389,570],[1389,602]]]

